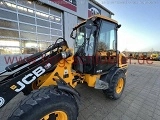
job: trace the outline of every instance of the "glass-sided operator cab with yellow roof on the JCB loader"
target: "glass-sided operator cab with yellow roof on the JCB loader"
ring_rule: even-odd
[[[73,69],[85,74],[105,73],[117,66],[118,23],[110,18],[95,15],[75,27]]]

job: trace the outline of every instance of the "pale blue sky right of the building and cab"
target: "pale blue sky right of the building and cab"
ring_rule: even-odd
[[[120,51],[160,51],[159,0],[97,0],[115,15]]]

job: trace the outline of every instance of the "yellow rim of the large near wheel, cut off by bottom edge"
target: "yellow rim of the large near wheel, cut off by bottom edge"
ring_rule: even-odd
[[[63,111],[55,111],[45,115],[41,120],[68,120],[68,117]]]

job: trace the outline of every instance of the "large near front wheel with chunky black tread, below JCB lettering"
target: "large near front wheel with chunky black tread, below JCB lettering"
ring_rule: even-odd
[[[33,91],[8,120],[56,120],[57,117],[77,120],[78,106],[71,94],[50,86]]]

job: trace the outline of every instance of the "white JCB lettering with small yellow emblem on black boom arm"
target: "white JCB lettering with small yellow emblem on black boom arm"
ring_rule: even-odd
[[[43,67],[38,67],[35,70],[32,71],[32,73],[29,73],[24,78],[22,78],[21,81],[17,82],[17,85],[20,86],[20,88],[17,88],[16,85],[12,85],[10,88],[16,92],[22,91],[26,85],[31,84],[34,80],[36,80],[39,76],[41,76],[46,70]]]

